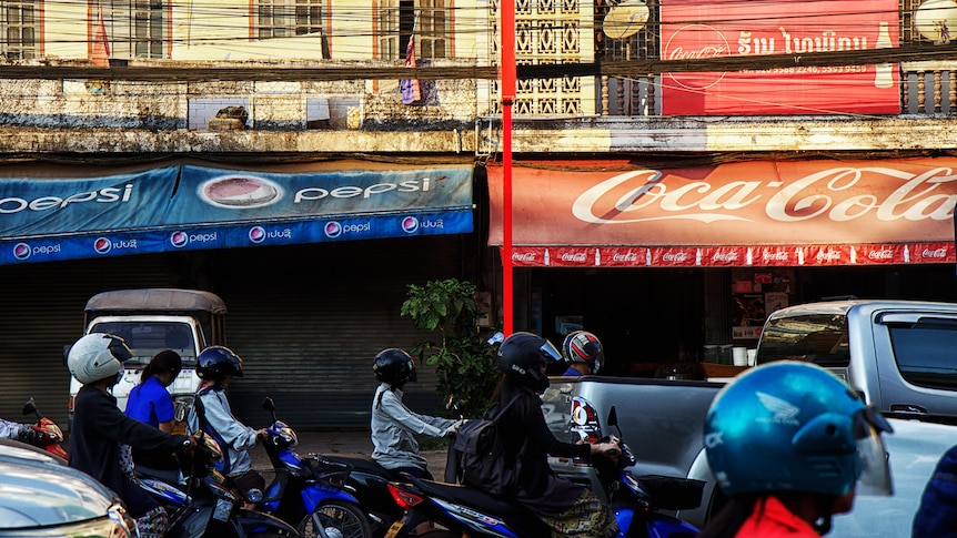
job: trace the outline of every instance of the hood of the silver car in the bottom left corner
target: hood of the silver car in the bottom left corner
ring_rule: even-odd
[[[0,528],[93,519],[117,501],[89,475],[23,446],[0,440]]]

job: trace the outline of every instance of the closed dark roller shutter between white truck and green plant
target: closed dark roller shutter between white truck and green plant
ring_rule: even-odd
[[[229,345],[244,361],[230,388],[235,415],[264,426],[261,403],[272,396],[294,428],[367,428],[375,354],[436,337],[400,316],[407,284],[462,277],[462,244],[433,236],[216,253],[214,291],[230,309]],[[439,414],[434,368],[416,366],[405,400]]]

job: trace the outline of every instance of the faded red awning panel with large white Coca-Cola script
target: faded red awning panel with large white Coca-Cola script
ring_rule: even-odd
[[[565,170],[548,164],[513,169],[514,244],[767,246],[757,255],[774,257],[773,264],[794,263],[776,250],[785,246],[954,241],[954,158],[693,169],[615,161],[570,162]],[[584,171],[590,165],[594,171]],[[498,166],[487,170],[490,243],[501,244],[502,173]],[[849,252],[842,255],[849,263]]]

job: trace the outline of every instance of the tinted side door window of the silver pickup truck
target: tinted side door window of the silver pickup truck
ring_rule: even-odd
[[[957,389],[957,323],[893,323],[887,328],[904,379],[929,388]]]

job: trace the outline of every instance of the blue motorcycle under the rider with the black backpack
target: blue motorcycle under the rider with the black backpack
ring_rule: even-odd
[[[608,425],[617,428],[615,408],[608,413]],[[611,438],[604,439],[608,441]],[[658,511],[691,509],[701,504],[704,483],[671,477],[635,477],[627,467],[635,464],[628,446],[618,440],[614,458],[596,458],[603,487],[611,499],[618,524],[618,537],[691,538],[694,526]],[[390,527],[385,538],[416,536],[415,527],[434,521],[439,527],[421,537],[460,538],[462,536],[520,538],[550,536],[551,529],[532,511],[512,499],[488,495],[480,489],[406,477],[409,483],[390,483],[395,503],[405,516]]]

